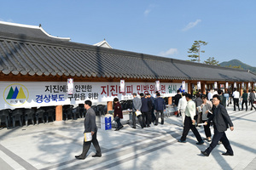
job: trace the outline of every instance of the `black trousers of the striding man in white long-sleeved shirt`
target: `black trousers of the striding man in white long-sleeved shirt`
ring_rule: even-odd
[[[195,134],[195,138],[197,139],[197,141],[200,142],[202,140],[201,135],[200,135],[200,133],[198,133],[195,125],[192,124],[191,117],[185,116],[184,127],[183,127],[183,136],[181,138],[182,141],[187,139],[187,135],[189,134],[190,129]]]

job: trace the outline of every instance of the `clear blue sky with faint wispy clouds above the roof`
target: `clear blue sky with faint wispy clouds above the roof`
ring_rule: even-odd
[[[256,66],[255,0],[8,0],[0,20],[38,26],[56,37],[187,60],[194,41],[201,60],[239,59]]]

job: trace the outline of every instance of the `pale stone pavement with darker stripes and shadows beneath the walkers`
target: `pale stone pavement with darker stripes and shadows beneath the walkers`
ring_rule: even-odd
[[[235,156],[222,156],[218,145],[208,157],[201,150],[209,145],[196,145],[189,132],[187,143],[181,144],[181,117],[165,118],[165,124],[141,129],[129,125],[119,131],[99,129],[97,139],[102,157],[93,158],[91,146],[85,160],[76,160],[83,144],[83,119],[55,126],[52,122],[28,127],[0,130],[0,169],[256,169],[256,111],[228,112],[235,125],[226,132]],[[98,124],[100,127],[100,124]],[[201,136],[203,127],[198,127]]]

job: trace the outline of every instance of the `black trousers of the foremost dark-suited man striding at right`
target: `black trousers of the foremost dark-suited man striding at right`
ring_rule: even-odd
[[[225,149],[227,150],[227,152],[229,152],[230,154],[234,154],[233,150],[231,148],[230,145],[230,141],[226,136],[225,132],[218,132],[218,130],[214,127],[214,135],[212,138],[212,143],[210,144],[210,146],[207,148],[207,154],[210,154],[212,152],[212,150],[216,147],[216,145],[218,144],[218,141],[221,141],[222,144],[224,144]]]

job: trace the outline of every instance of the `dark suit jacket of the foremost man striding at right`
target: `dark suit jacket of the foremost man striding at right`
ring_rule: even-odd
[[[234,127],[230,116],[225,109],[224,105],[218,105],[216,108],[215,106],[212,107],[213,114],[208,119],[207,123],[213,121],[214,128],[217,128],[218,132],[222,133],[227,130],[227,128]]]

